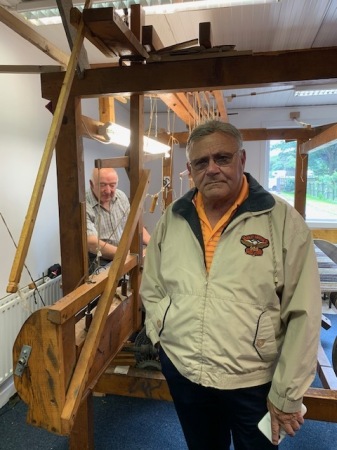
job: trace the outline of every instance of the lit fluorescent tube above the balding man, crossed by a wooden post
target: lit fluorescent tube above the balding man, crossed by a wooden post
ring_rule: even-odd
[[[99,125],[98,134],[107,142],[122,145],[123,147],[129,147],[130,145],[130,130],[114,122],[106,122],[104,125]],[[143,150],[145,153],[168,155],[171,147],[169,145],[162,144],[155,139],[151,139],[144,136]]]

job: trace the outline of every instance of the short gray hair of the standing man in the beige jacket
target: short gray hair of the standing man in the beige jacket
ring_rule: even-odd
[[[234,125],[228,122],[220,122],[219,120],[209,120],[195,127],[189,135],[186,144],[186,158],[188,161],[193,143],[198,139],[215,132],[220,132],[232,136],[234,139],[236,139],[239,150],[242,149],[242,135]]]

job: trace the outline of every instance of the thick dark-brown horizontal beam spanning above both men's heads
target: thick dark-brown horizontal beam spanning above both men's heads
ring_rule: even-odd
[[[157,93],[248,88],[337,79],[337,47],[217,56],[175,62],[135,64],[87,70],[74,79],[72,96],[97,97],[113,93]],[[42,96],[58,96],[64,76],[42,74]]]

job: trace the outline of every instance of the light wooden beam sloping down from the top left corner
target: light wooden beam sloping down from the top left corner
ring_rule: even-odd
[[[48,55],[50,58],[57,61],[64,67],[67,67],[69,62],[69,56],[57,48],[53,43],[45,39],[39,33],[37,33],[33,28],[31,28],[27,23],[20,20],[14,14],[8,12],[5,8],[0,6],[0,21],[7,25],[11,30],[18,33],[21,37],[26,39],[26,41],[33,44],[43,53]]]

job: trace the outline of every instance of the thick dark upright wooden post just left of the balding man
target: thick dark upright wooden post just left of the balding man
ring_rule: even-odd
[[[65,120],[62,120],[64,123],[60,127],[55,144],[64,295],[84,282],[88,273],[81,117],[81,99],[67,102]],[[72,176],[69,176],[69,173]]]

